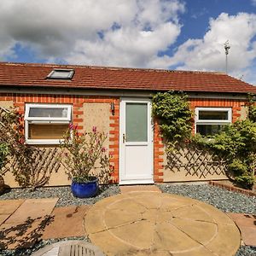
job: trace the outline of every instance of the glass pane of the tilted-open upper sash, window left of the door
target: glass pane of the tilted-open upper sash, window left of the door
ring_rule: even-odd
[[[29,117],[67,118],[67,108],[30,108]]]

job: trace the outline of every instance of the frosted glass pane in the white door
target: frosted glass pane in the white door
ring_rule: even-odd
[[[148,104],[126,103],[126,142],[148,142]]]

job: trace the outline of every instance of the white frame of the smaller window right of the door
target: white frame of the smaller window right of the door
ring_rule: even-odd
[[[228,119],[199,119],[199,111],[219,111],[228,112]],[[196,125],[229,125],[232,123],[232,108],[195,108],[195,133]]]

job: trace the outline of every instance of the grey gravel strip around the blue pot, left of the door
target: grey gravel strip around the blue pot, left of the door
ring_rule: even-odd
[[[70,187],[49,187],[38,188],[35,191],[29,189],[11,189],[8,193],[0,195],[0,200],[4,199],[22,199],[22,198],[49,198],[58,197],[59,200],[56,207],[93,205],[96,201],[100,201],[110,195],[120,193],[118,185],[104,185],[100,187],[98,194],[92,198],[76,198],[72,195]]]

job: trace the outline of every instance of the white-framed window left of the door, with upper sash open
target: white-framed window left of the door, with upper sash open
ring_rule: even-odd
[[[26,104],[27,144],[58,144],[71,122],[71,105]]]

